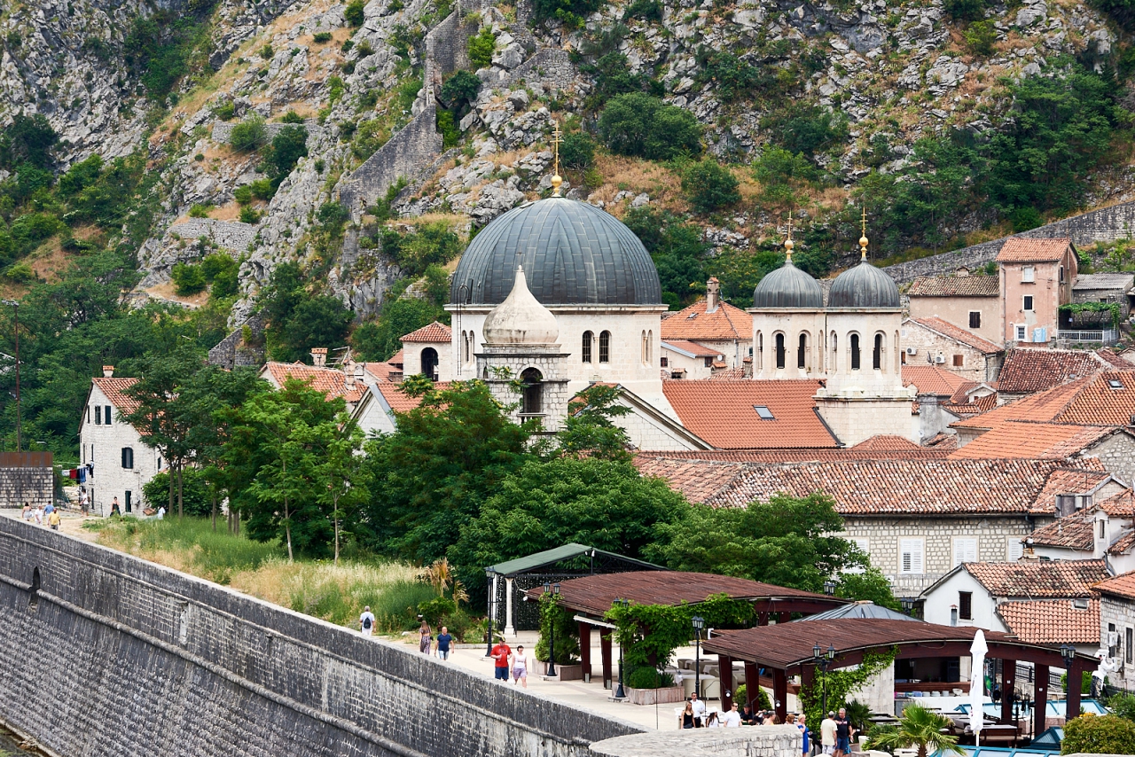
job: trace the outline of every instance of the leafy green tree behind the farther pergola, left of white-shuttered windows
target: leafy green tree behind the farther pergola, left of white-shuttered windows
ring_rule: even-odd
[[[674,570],[723,573],[821,591],[847,567],[866,567],[861,552],[839,536],[843,519],[825,494],[774,494],[747,507],[695,507],[662,527],[650,554]]]

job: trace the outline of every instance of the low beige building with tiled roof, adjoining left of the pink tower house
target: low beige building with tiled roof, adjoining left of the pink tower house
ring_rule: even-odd
[[[1001,344],[1001,281],[998,276],[919,276],[907,292],[910,318],[940,318],[978,337]]]

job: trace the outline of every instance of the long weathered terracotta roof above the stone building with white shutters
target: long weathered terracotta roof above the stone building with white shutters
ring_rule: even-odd
[[[644,465],[665,470],[663,461],[653,459]],[[717,482],[726,478],[720,466],[729,463],[681,462],[684,478],[698,474],[698,466],[713,469]],[[834,497],[836,511],[844,515],[1051,514],[1056,506],[1054,491],[1046,506],[1036,504],[1056,468],[1056,463],[1037,460],[856,460],[732,465],[737,476],[720,490],[687,496],[712,506],[739,507],[753,501],[767,502],[776,491],[796,497],[826,491]],[[669,479],[664,472],[655,474]]]

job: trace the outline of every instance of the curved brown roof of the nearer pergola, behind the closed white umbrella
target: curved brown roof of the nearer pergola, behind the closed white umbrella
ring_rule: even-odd
[[[808,623],[780,623],[739,631],[714,631],[713,638],[701,642],[712,654],[724,654],[734,659],[748,659],[768,667],[784,670],[813,661],[813,648],[832,645],[836,656],[871,649],[885,651],[903,644],[972,644],[977,629],[934,623],[910,623],[891,619],[846,617]],[[1054,647],[1026,644],[1011,633],[985,631],[989,644],[1011,645],[1028,649],[1043,649],[1059,654]],[[930,651],[930,650],[928,650]],[[927,656],[932,656],[927,654]],[[1081,655],[1087,659],[1084,655]]]

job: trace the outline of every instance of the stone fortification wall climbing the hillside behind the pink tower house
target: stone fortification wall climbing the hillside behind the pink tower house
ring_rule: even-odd
[[[1130,236],[1133,232],[1135,232],[1135,202],[1125,202],[1066,218],[1062,221],[1056,221],[1014,236],[1031,238],[1067,236],[1071,238],[1073,244],[1087,246],[1096,242],[1123,239]],[[899,284],[909,284],[918,276],[952,274],[962,266],[970,269],[977,268],[997,258],[1001,245],[1008,238],[1001,237],[953,252],[888,266],[883,270]]]

